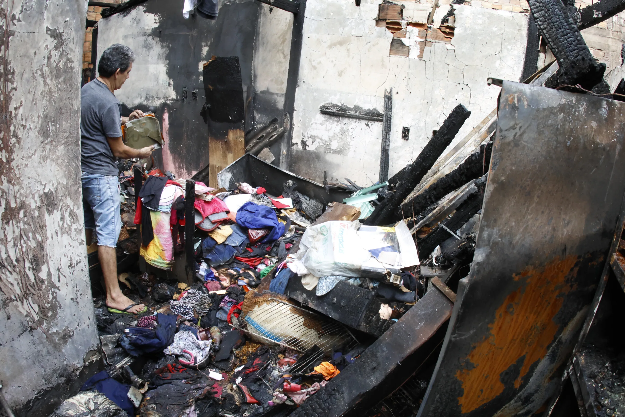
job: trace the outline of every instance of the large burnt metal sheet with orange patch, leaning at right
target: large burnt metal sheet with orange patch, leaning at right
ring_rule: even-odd
[[[504,82],[471,273],[420,417],[529,416],[556,393],[625,192],[625,103]]]

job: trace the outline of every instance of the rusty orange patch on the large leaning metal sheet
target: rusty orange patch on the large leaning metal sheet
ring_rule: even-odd
[[[512,276],[524,284],[497,308],[495,319],[488,326],[489,336],[474,344],[469,356],[461,359],[461,363],[472,364],[470,369],[456,372],[464,390],[458,397],[463,414],[503,392],[504,384],[499,376],[512,364],[522,360],[514,381],[514,387],[519,388],[532,364],[547,354],[559,327],[553,318],[562,307],[562,295],[575,288],[567,282],[567,277],[576,274],[579,258],[574,255],[555,258],[546,266],[528,266]]]

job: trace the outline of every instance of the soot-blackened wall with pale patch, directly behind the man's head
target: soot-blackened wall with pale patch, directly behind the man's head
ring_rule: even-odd
[[[98,55],[114,43],[133,49],[131,76],[116,91],[130,108],[151,109],[161,121],[165,139],[156,151],[161,168],[190,178],[208,164],[207,126],[200,116],[205,103],[202,65],[211,56],[237,56],[246,103],[246,129],[251,126],[252,58],[261,4],[249,0],[219,1],[216,21],[183,18],[183,2],[149,0],[125,13],[101,19]],[[197,98],[194,96],[197,95]]]

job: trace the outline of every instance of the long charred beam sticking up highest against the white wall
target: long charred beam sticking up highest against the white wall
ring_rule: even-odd
[[[427,171],[434,165],[436,159],[441,156],[443,151],[449,146],[454,136],[458,133],[464,121],[469,118],[471,112],[462,104],[458,104],[454,108],[447,119],[445,119],[441,128],[427,143],[419,156],[408,164],[404,169],[404,175],[399,178],[392,194],[384,199],[379,206],[366,219],[365,224],[387,224],[399,219],[395,214],[396,209],[410,194],[412,189],[419,184],[419,181],[425,176]]]

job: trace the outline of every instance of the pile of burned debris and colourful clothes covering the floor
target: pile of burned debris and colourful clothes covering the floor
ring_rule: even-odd
[[[290,414],[392,343],[385,332],[404,314],[437,306],[418,348],[448,319],[447,284],[471,262],[492,142],[411,192],[469,114],[457,106],[413,163],[367,188],[317,184],[251,153],[219,174],[218,189],[201,181],[207,169],[176,179],[122,161],[118,278],[148,310],[107,308],[90,256],[105,367],[56,414],[91,403],[144,417]]]

